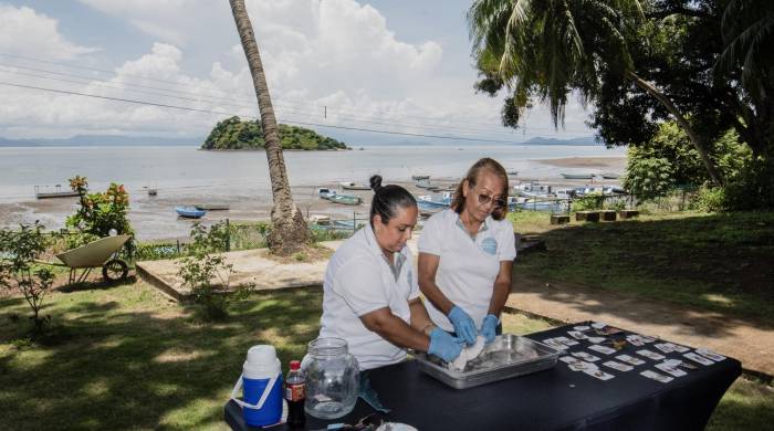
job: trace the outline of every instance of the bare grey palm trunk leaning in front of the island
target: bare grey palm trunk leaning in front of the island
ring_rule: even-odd
[[[303,249],[310,241],[310,232],[306,228],[303,213],[293,203],[285,160],[282,156],[280,134],[274,117],[274,108],[269,95],[269,85],[261,63],[261,54],[252,30],[244,0],[229,0],[231,12],[237,22],[242,49],[248,57],[253,87],[258,96],[258,109],[261,113],[261,126],[265,140],[266,159],[269,160],[269,177],[271,179],[274,207],[271,211],[272,229],[269,235],[269,248],[272,253],[289,255]]]

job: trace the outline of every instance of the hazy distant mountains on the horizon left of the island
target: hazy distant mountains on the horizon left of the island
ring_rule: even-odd
[[[203,137],[161,138],[157,136],[75,135],[60,139],[8,139],[0,137],[0,147],[96,147],[96,146],[187,146],[198,147]]]

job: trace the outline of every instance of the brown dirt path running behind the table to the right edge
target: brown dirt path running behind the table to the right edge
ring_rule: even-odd
[[[774,375],[774,329],[755,322],[642,299],[571,283],[545,283],[514,274],[506,306],[556,320],[597,320],[742,361],[746,370]]]

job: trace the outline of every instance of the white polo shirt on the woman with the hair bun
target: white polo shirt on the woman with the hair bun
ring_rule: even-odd
[[[395,265],[390,265],[370,224],[344,241],[328,262],[323,283],[320,336],[344,338],[360,370],[406,358],[406,349],[366,328],[359,317],[389,307],[395,316],[409,323],[408,302],[419,297],[411,262],[411,252],[405,246],[395,254]]]

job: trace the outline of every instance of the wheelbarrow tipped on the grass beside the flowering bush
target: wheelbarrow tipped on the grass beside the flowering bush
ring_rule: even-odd
[[[70,284],[83,283],[93,269],[102,266],[102,276],[108,282],[124,280],[129,274],[126,262],[116,255],[130,235],[101,238],[88,244],[57,254],[62,263],[70,267]],[[80,274],[79,274],[80,271]]]

